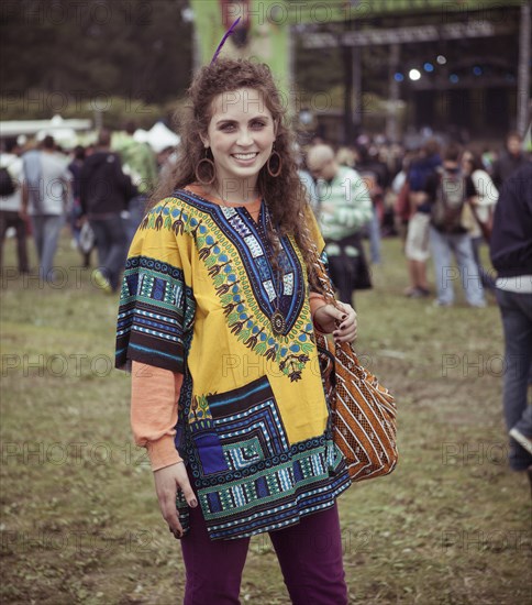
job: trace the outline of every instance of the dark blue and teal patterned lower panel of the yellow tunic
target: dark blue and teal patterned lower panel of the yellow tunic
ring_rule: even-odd
[[[279,529],[350,486],[329,433],[289,444],[268,378],[204,397],[189,413],[187,460],[212,539]],[[197,406],[198,407],[198,406]]]

